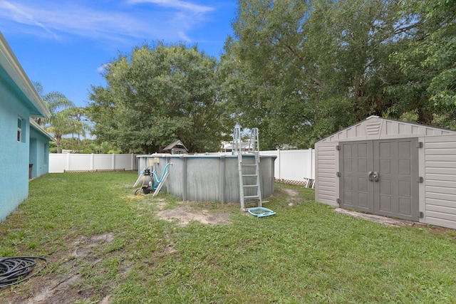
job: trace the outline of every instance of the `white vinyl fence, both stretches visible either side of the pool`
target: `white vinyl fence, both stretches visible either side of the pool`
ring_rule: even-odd
[[[315,150],[271,150],[261,155],[275,155],[274,177],[305,182],[315,179]],[[137,154],[49,154],[49,172],[138,170]]]

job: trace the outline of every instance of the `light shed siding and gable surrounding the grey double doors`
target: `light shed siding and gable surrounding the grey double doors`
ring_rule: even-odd
[[[316,142],[316,200],[333,206],[339,193],[338,151],[342,142],[416,138],[421,223],[456,229],[456,131],[371,116]]]

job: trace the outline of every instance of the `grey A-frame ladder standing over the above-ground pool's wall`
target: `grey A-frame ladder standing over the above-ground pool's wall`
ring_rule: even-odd
[[[252,133],[250,135],[249,147],[245,154],[254,155],[254,163],[243,162],[243,149],[241,142],[241,130],[240,126],[237,124],[234,127],[233,134],[233,146],[234,150],[237,153],[237,165],[239,169],[239,195],[241,200],[241,209],[242,211],[247,211],[245,208],[246,201],[257,201],[258,206],[262,206],[261,202],[261,187],[259,180],[259,140],[258,140],[258,128],[252,128]],[[247,159],[244,157],[244,160]],[[250,157],[249,157],[250,159]],[[254,191],[256,190],[256,191]],[[252,194],[256,193],[256,194]],[[249,195],[245,195],[248,193]]]

